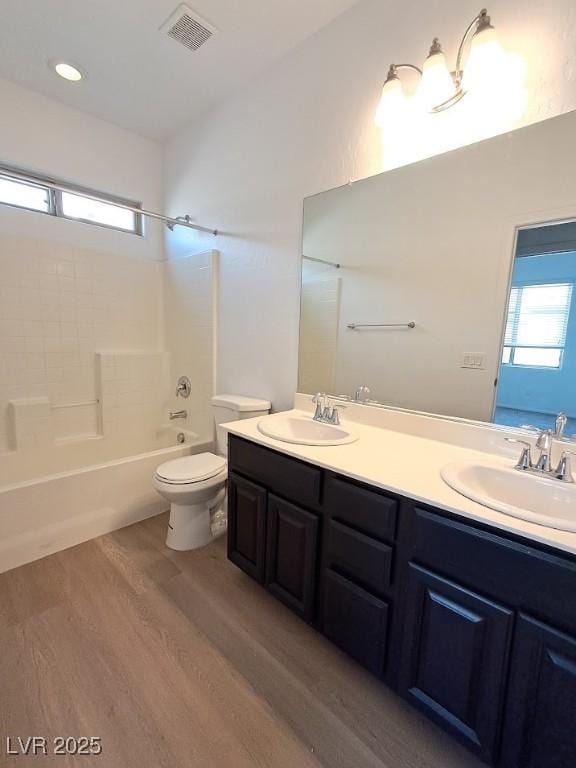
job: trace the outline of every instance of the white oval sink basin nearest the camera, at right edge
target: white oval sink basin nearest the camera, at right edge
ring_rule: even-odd
[[[491,464],[448,464],[451,488],[485,507],[537,525],[576,531],[576,485]]]

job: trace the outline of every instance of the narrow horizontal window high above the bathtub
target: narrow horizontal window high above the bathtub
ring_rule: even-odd
[[[142,234],[142,215],[137,210],[130,210],[140,208],[139,203],[87,189],[68,192],[58,188],[66,186],[54,179],[0,167],[0,204]]]

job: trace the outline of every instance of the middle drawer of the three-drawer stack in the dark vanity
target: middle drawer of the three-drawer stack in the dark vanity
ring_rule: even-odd
[[[332,520],[327,565],[367,589],[387,592],[392,577],[393,548]]]

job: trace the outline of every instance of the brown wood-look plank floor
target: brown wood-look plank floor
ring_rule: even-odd
[[[479,768],[225,558],[162,515],[0,576],[0,766]],[[6,736],[100,736],[10,757]]]

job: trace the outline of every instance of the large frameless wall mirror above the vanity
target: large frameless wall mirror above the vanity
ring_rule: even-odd
[[[299,391],[575,433],[575,136],[569,113],[307,198]]]

